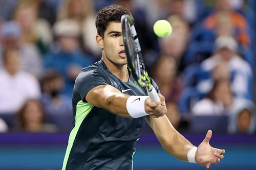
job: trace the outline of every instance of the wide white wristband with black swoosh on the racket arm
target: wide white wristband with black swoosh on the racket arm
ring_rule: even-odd
[[[126,102],[126,108],[128,113],[133,118],[138,118],[142,116],[148,115],[145,112],[145,100],[148,98],[148,96],[136,96],[131,95]]]

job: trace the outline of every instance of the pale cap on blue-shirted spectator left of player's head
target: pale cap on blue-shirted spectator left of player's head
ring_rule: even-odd
[[[76,21],[72,19],[64,19],[55,23],[53,31],[56,36],[77,37],[80,29]]]

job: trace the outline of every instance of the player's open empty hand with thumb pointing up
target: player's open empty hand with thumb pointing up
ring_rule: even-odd
[[[225,150],[212,148],[209,144],[212,132],[208,130],[205,139],[200,143],[196,152],[196,162],[209,168],[212,163],[219,163],[224,158]]]

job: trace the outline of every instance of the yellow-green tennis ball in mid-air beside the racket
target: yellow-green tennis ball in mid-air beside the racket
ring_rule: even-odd
[[[155,22],[153,30],[158,37],[167,37],[173,28],[167,20],[161,19]]]

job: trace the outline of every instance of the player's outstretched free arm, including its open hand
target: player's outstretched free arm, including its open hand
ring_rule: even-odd
[[[165,103],[163,102],[163,96],[161,94],[159,96],[161,103],[165,105]],[[166,152],[180,160],[188,161],[187,153],[190,149],[194,148],[195,146],[191,144],[178,131],[175,130],[175,128],[169,122],[166,115],[158,118],[146,116],[146,120],[153,129],[153,131],[155,132],[158,140],[160,141],[163,149]],[[223,154],[225,153],[225,150],[213,148],[210,146],[209,140],[211,138],[211,135],[212,132],[208,130],[205,138],[198,146],[195,155],[189,154],[190,161],[194,159],[192,162],[195,161],[200,165],[209,168],[211,164],[219,163],[220,160],[224,158]]]

